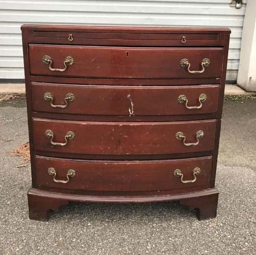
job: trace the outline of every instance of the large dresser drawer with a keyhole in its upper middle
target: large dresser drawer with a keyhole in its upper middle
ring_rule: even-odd
[[[66,59],[67,57],[72,57],[72,59]],[[219,78],[221,77],[223,48],[30,44],[29,58],[32,75],[144,79]],[[207,64],[204,59],[209,60]],[[182,60],[187,60],[187,62]],[[204,72],[190,73],[188,71],[188,68],[192,71],[203,71],[202,63],[205,66]],[[59,71],[55,70],[56,68]]]

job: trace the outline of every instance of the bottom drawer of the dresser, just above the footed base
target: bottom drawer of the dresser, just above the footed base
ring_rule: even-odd
[[[188,192],[195,188],[207,189],[210,187],[211,166],[211,156],[150,161],[96,161],[35,157],[39,186],[84,191],[182,189],[182,192]],[[69,171],[70,169],[73,171]],[[63,180],[64,183],[58,180]],[[187,180],[193,180],[193,182],[186,182]]]

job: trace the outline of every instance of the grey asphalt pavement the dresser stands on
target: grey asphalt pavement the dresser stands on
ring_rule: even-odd
[[[11,151],[28,141],[24,98],[0,103],[0,255],[255,255],[256,101],[225,101],[217,217],[178,203],[79,204],[29,220],[30,166]]]

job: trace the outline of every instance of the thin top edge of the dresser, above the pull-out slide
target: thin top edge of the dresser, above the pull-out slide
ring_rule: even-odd
[[[94,31],[115,33],[231,33],[229,28],[210,27],[147,27],[147,26],[65,26],[65,25],[32,25],[24,24],[21,29],[32,29],[40,31]]]

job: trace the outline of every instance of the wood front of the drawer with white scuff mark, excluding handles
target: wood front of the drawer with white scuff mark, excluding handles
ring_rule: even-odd
[[[93,86],[74,84],[34,83],[32,110],[85,115],[160,116],[194,115],[217,111],[219,86]],[[65,105],[65,97],[72,93],[74,101],[67,108],[54,108],[45,101],[44,94],[54,96],[54,104]],[[179,95],[186,95],[189,106],[198,106],[200,94],[207,99],[200,109],[187,109],[178,102]]]

